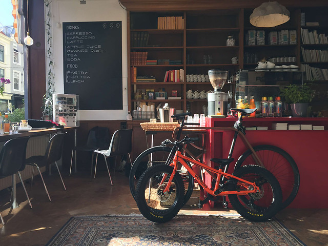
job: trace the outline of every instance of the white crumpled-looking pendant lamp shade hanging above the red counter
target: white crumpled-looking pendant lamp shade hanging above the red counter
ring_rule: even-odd
[[[288,22],[290,12],[278,2],[261,4],[254,9],[250,16],[250,23],[255,27],[275,27]]]

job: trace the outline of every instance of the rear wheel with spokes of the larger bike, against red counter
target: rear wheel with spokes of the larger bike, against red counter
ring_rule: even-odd
[[[262,161],[263,167],[277,178],[282,191],[280,209],[284,209],[291,204],[299,189],[300,177],[294,159],[276,146],[260,145],[253,148]],[[259,165],[250,150],[239,157],[235,170],[247,165]]]

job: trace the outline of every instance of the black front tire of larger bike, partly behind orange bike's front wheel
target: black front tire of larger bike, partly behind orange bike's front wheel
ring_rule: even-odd
[[[135,198],[135,194],[136,194],[136,186],[135,186],[135,174],[137,173],[137,170],[140,168],[140,163],[145,159],[148,158],[148,156],[151,153],[156,153],[156,152],[168,152],[168,156],[169,153],[171,152],[172,148],[167,147],[167,146],[155,146],[152,148],[149,148],[147,150],[145,150],[144,152],[142,152],[133,162],[133,165],[131,167],[130,170],[130,174],[129,174],[129,186],[130,186],[130,191],[131,194],[133,196],[134,199]],[[164,160],[166,161],[166,159]],[[187,162],[188,163],[188,162]],[[189,163],[188,163],[189,165]],[[190,165],[189,165],[190,166]],[[143,170],[142,170],[143,171]],[[186,193],[185,193],[185,197],[183,199],[183,203],[182,206],[185,205],[187,203],[187,201],[189,200],[189,198],[191,197],[193,190],[194,190],[194,177],[188,172],[188,188],[186,189]]]

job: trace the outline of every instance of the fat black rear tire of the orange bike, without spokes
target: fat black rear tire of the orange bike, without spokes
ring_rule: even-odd
[[[274,202],[272,203],[272,207],[270,208],[269,211],[265,212],[265,216],[256,216],[256,215],[252,215],[250,213],[245,212],[245,208],[244,206],[239,202],[237,196],[238,195],[228,195],[229,200],[233,206],[233,208],[244,218],[252,220],[252,221],[266,221],[272,217],[275,216],[276,213],[279,212],[280,210],[280,206],[281,206],[281,201],[282,201],[282,192],[281,192],[281,188],[279,185],[278,180],[276,179],[276,177],[269,172],[267,169],[260,167],[260,166],[256,166],[256,165],[247,165],[247,166],[243,166],[243,168],[239,168],[237,170],[235,170],[235,172],[233,173],[233,175],[239,177],[241,175],[239,175],[239,173],[241,172],[246,172],[247,169],[249,170],[255,170],[255,171],[248,171],[248,172],[253,172],[253,173],[261,173],[263,172],[265,175],[267,175],[270,179],[270,185],[274,190]]]

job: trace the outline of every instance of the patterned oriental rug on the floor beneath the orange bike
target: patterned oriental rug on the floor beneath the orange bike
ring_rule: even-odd
[[[141,215],[72,217],[47,245],[305,245],[277,220],[237,214],[177,215],[154,223]]]

